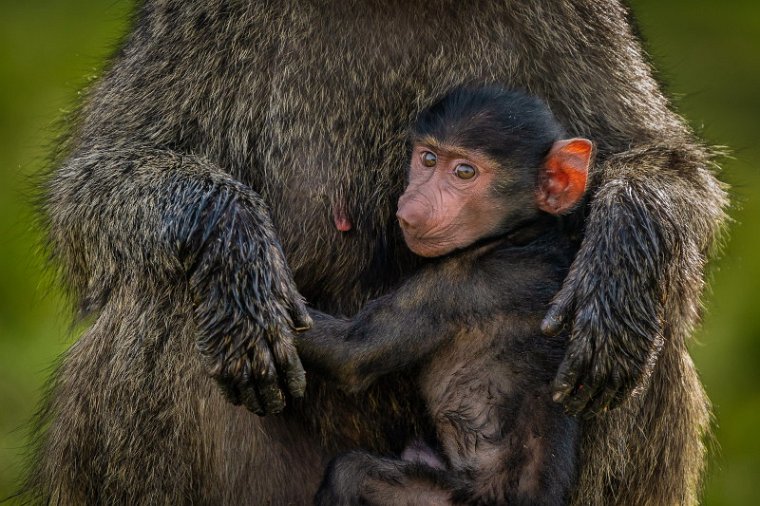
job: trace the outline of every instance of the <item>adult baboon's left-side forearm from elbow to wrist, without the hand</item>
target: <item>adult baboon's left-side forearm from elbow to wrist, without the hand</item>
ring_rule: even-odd
[[[74,153],[44,198],[51,252],[84,312],[119,283],[192,276],[215,260],[208,246],[233,230],[258,238],[260,248],[277,247],[255,192],[201,158],[171,151]]]

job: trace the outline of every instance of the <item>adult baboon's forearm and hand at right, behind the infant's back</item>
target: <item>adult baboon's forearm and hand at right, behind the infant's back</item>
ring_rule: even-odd
[[[726,221],[726,192],[710,165],[694,145],[646,146],[604,162],[583,244],[547,319],[572,321],[555,380],[559,398],[581,392],[567,400],[571,411],[623,402],[665,338],[685,336],[668,329],[697,321],[705,263]]]

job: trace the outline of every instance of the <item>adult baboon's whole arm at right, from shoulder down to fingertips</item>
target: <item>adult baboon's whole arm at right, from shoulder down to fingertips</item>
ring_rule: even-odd
[[[571,327],[556,399],[571,413],[597,412],[644,385],[663,338],[693,327],[727,197],[709,150],[652,77],[622,3],[518,3],[515,47],[526,54],[516,84],[599,148],[584,240],[543,325]]]

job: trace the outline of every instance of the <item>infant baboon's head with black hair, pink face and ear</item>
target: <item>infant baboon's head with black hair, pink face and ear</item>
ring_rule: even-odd
[[[565,213],[586,189],[591,141],[564,139],[546,104],[520,91],[454,90],[419,115],[411,137],[397,217],[422,256]]]

